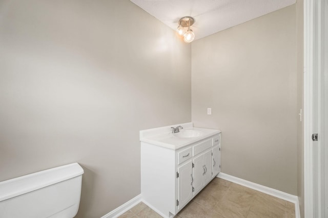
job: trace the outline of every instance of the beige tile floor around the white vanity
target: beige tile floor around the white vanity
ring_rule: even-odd
[[[161,216],[139,203],[120,218]],[[295,218],[295,205],[224,179],[214,178],[176,218]]]

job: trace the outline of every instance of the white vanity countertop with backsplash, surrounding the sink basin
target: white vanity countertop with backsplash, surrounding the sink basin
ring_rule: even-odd
[[[180,132],[186,130],[194,130],[194,131],[200,131],[202,132],[202,134],[197,137],[181,138],[174,135],[175,133],[172,133],[171,127],[177,127],[177,126],[183,127],[183,129],[180,130]],[[188,146],[191,143],[218,134],[220,132],[221,132],[220,130],[215,130],[215,129],[193,127],[193,123],[176,124],[172,126],[141,130],[140,141],[154,144],[155,146],[161,146],[164,148],[177,150],[182,147]]]

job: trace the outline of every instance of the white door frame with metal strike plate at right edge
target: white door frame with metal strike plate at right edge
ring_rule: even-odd
[[[327,3],[327,0],[304,0],[305,218],[328,217]],[[311,138],[315,133],[317,140]]]

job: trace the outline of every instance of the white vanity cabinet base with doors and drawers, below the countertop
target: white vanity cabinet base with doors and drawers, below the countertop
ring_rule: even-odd
[[[220,132],[178,148],[141,141],[141,198],[174,217],[220,172]]]

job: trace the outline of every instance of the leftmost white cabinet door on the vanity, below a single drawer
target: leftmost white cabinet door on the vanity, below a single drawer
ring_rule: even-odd
[[[181,208],[189,202],[193,196],[192,176],[193,168],[192,161],[188,161],[178,167],[178,208]]]

